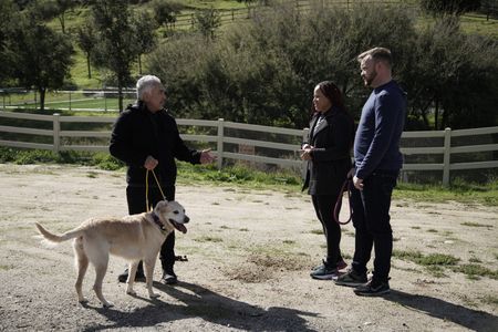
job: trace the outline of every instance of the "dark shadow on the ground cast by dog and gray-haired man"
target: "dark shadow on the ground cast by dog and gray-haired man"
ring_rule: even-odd
[[[172,297],[184,304],[170,304],[163,302],[162,298],[148,299],[137,295],[135,298],[147,301],[149,305],[125,312],[115,307],[104,309],[86,304],[85,308],[94,309],[110,322],[86,326],[83,331],[155,326],[188,318],[201,318],[207,322],[240,330],[313,331],[307,328],[307,321],[300,315],[318,315],[290,308],[259,308],[188,282],[178,282],[175,287],[154,282],[154,287],[165,293],[162,298]]]

